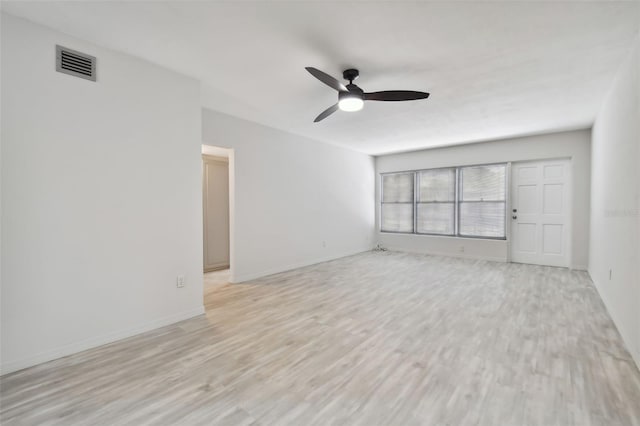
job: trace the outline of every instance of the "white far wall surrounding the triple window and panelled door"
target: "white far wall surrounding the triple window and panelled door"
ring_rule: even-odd
[[[586,269],[589,243],[590,138],[589,130],[577,130],[380,156],[376,158],[376,193],[379,191],[380,173],[470,164],[571,158],[573,179],[571,266],[575,269]],[[376,195],[376,200],[378,199]],[[378,204],[376,204],[377,217],[379,216]],[[380,226],[376,220],[376,230],[378,229]],[[507,241],[381,232],[377,232],[377,240],[384,247],[393,250],[448,256],[506,261],[509,254]],[[459,251],[460,246],[464,246],[463,253]]]

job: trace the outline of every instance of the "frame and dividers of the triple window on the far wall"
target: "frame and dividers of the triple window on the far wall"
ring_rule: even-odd
[[[504,167],[504,201],[491,200],[491,201],[477,201],[478,203],[502,203],[504,204],[504,221],[503,221],[503,237],[487,237],[481,235],[466,235],[460,234],[460,205],[462,204],[460,197],[462,195],[462,179],[460,169],[466,167],[482,167],[482,166],[503,166]],[[442,170],[442,169],[454,169],[455,170],[455,199],[454,199],[454,234],[435,234],[435,233],[425,233],[418,232],[418,204],[437,204],[438,202],[426,202],[421,203],[418,201],[418,180],[419,173],[430,171],[430,170]],[[384,176],[394,175],[394,174],[413,174],[413,232],[403,232],[403,231],[385,231],[382,229],[382,205],[383,204],[409,204],[409,202],[404,203],[383,203],[383,179]],[[379,224],[378,224],[378,232],[385,234],[403,234],[403,235],[428,235],[428,236],[436,236],[436,237],[445,237],[445,238],[471,238],[471,239],[479,239],[479,240],[497,240],[497,241],[506,241],[508,236],[508,225],[507,225],[507,210],[509,209],[509,163],[508,162],[498,162],[498,163],[481,163],[481,164],[466,164],[463,166],[449,166],[449,167],[432,167],[428,169],[414,169],[414,170],[402,170],[402,171],[394,171],[394,172],[384,172],[379,173],[380,175],[380,200],[379,200]],[[474,201],[464,201],[465,203],[473,203]],[[446,202],[444,204],[449,204]]]

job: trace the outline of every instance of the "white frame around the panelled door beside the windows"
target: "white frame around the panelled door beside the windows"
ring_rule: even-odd
[[[567,206],[567,268],[570,270],[574,269],[573,264],[573,157],[547,157],[547,158],[538,158],[533,160],[522,160],[522,161],[510,161],[507,163],[507,187],[509,188],[507,195],[507,217],[506,219],[509,221],[507,225],[507,262],[513,262],[513,219],[511,216],[513,214],[513,170],[515,165],[519,164],[527,164],[527,163],[540,163],[544,161],[565,161],[568,164],[567,170],[569,171],[567,175],[567,187],[569,190],[568,197],[568,206]],[[562,268],[563,266],[550,266],[554,268]]]

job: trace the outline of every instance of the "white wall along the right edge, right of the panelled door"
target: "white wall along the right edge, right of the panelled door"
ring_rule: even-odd
[[[640,366],[639,104],[637,41],[593,127],[589,274]]]

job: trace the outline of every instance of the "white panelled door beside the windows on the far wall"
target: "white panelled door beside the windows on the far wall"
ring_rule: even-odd
[[[511,260],[569,266],[571,162],[514,163]]]

